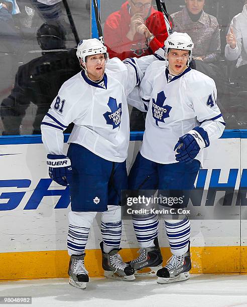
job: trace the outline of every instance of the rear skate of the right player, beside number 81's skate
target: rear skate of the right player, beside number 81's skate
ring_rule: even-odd
[[[134,269],[136,276],[155,276],[162,268],[162,254],[158,238],[154,239],[155,246],[139,249],[139,256],[128,262]]]

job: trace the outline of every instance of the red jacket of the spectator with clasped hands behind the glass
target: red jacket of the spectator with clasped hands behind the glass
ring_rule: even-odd
[[[117,57],[120,60],[129,57],[141,57],[153,54],[164,46],[168,37],[163,14],[151,8],[145,25],[155,38],[150,42],[150,48],[145,43],[145,36],[136,33],[134,40],[130,41],[126,35],[130,30],[131,15],[128,1],[122,4],[121,9],[110,14],[104,24],[104,42],[107,46],[109,57]]]

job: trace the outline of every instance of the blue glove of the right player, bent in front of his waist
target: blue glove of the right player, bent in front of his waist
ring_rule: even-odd
[[[179,137],[174,147],[176,160],[183,163],[191,163],[198,155],[201,148],[209,146],[207,132],[201,127],[195,127],[185,135]]]

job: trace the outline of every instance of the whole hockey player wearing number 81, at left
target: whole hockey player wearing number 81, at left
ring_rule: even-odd
[[[79,43],[77,57],[82,71],[62,85],[41,124],[49,175],[62,186],[70,185],[68,274],[70,284],[80,288],[88,282],[84,250],[97,212],[102,212],[100,247],[105,276],[135,279],[134,269],[118,254],[120,191],[128,185],[127,96],[156,57],[108,61],[106,51],[97,39]],[[71,122],[75,125],[65,156],[63,130]]]

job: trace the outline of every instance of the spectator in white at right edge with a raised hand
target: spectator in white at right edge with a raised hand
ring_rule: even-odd
[[[229,61],[235,61],[236,66],[233,76],[237,82],[244,83],[246,87],[247,73],[247,1],[242,12],[233,17],[228,34],[226,36],[225,57]]]

